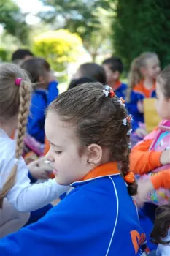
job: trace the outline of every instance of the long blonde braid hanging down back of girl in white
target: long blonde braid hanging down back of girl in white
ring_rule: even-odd
[[[21,81],[19,93],[20,106],[18,113],[18,136],[15,150],[15,159],[19,159],[20,156],[23,154],[23,138],[26,133],[26,123],[31,99],[31,86],[28,86],[28,84],[25,81]],[[9,177],[7,178],[7,181],[4,183],[4,186],[1,189],[0,208],[2,208],[4,196],[7,195],[9,189],[11,189],[12,186],[15,184],[17,167],[17,162],[15,162],[15,165],[12,167]]]

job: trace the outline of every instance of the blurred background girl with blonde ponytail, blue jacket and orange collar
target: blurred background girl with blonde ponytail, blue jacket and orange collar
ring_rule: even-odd
[[[144,137],[144,98],[155,97],[155,80],[161,71],[160,61],[156,53],[142,53],[131,64],[128,80],[128,111],[134,118],[133,129],[139,137]]]

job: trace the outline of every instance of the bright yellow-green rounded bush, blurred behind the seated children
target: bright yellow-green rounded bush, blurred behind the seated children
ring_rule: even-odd
[[[66,69],[82,53],[82,40],[65,29],[48,31],[34,38],[34,53],[47,59],[56,71]]]

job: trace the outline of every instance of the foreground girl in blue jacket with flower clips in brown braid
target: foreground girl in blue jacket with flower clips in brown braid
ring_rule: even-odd
[[[2,238],[0,254],[142,256],[145,234],[131,197],[137,184],[128,171],[131,116],[123,99],[101,83],[70,89],[48,108],[45,132],[55,179],[73,189],[39,222]]]

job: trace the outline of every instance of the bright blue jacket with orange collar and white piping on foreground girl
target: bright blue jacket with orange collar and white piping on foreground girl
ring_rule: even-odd
[[[145,236],[116,166],[97,167],[72,184],[74,189],[45,217],[2,238],[0,255],[142,255]]]

